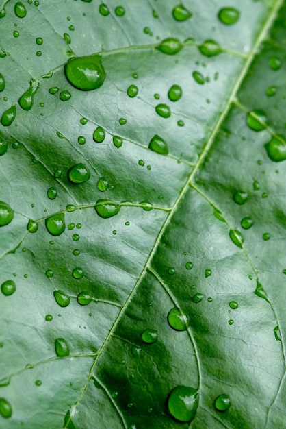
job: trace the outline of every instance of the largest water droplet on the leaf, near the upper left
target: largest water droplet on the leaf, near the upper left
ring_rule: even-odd
[[[72,58],[64,66],[64,73],[71,85],[83,91],[100,88],[105,80],[100,55]]]

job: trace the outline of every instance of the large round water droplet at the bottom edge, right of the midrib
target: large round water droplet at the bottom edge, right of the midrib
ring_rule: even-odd
[[[198,408],[198,391],[192,387],[177,386],[168,396],[168,410],[178,421],[188,422]]]

